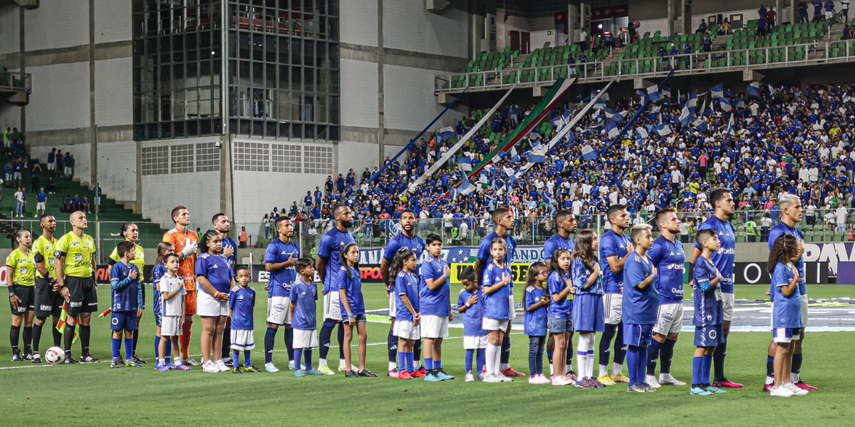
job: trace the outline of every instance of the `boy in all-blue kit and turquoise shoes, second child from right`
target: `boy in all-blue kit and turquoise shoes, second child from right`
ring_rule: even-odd
[[[712,261],[712,254],[721,249],[722,243],[711,228],[700,230],[695,241],[703,250],[692,273],[695,353],[692,359],[692,389],[689,393],[700,396],[724,394],[724,390],[710,385],[712,353],[724,341],[722,299],[718,288],[722,282],[722,273]]]

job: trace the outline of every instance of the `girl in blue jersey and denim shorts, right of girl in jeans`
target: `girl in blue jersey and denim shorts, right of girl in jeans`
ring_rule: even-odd
[[[549,332],[555,341],[552,353],[552,385],[568,385],[573,383],[564,375],[569,371],[569,366],[566,366],[567,343],[573,333],[573,302],[568,296],[575,292],[575,286],[570,279],[570,252],[567,249],[552,252],[550,269],[546,284],[552,299],[548,310]]]

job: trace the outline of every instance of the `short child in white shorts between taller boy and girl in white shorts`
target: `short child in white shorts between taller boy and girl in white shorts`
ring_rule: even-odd
[[[481,302],[481,290],[478,288],[478,276],[475,269],[466,266],[457,276],[463,283],[463,289],[457,294],[457,312],[463,314],[463,349],[466,356],[463,365],[466,370],[466,383],[481,378],[486,350],[486,330],[481,328],[484,304]],[[475,359],[475,375],[472,374],[472,359]]]

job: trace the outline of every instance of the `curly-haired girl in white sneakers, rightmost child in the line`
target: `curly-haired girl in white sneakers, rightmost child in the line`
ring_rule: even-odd
[[[805,395],[808,391],[793,384],[790,375],[793,344],[804,326],[799,298],[799,269],[794,264],[805,247],[793,234],[778,234],[769,249],[767,269],[772,276],[772,340],[775,341],[775,383],[769,394],[776,397]]]

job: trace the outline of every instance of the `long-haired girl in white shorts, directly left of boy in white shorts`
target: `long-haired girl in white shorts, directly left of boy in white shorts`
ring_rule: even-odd
[[[416,254],[406,247],[395,252],[389,273],[395,277],[396,307],[395,336],[398,337],[398,379],[423,378],[413,365],[413,344],[421,335],[419,323],[422,313],[419,305],[419,279],[416,276]]]

